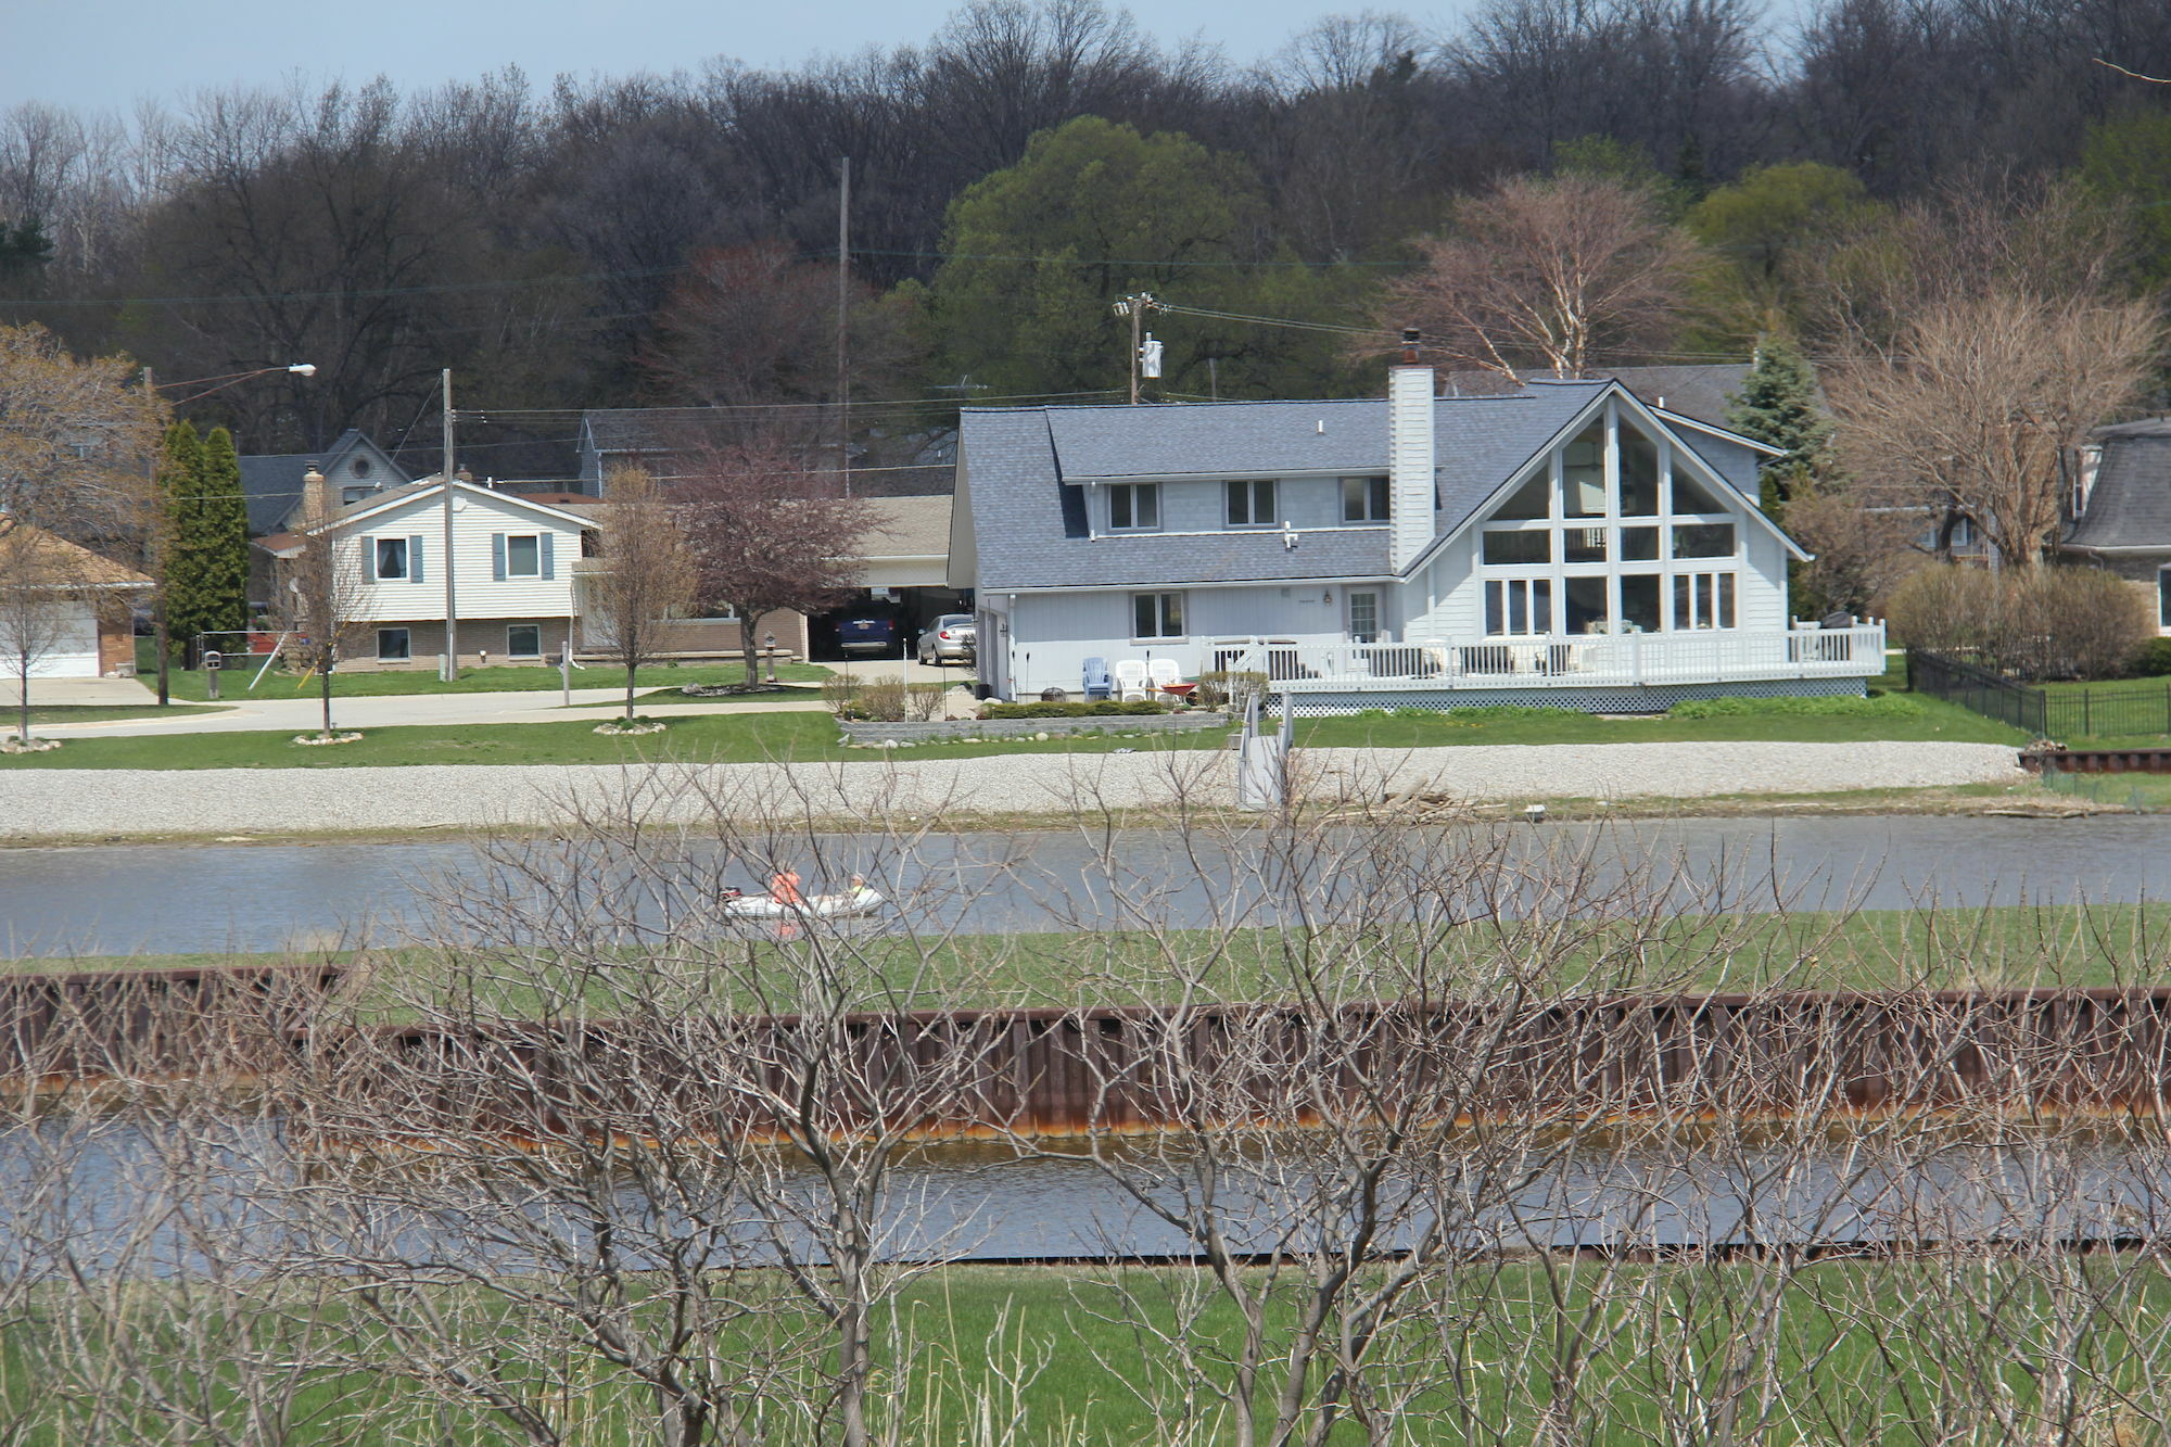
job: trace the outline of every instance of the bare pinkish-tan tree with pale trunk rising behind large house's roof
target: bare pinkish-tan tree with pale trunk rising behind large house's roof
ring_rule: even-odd
[[[1637,187],[1515,178],[1455,209],[1422,267],[1385,287],[1381,326],[1418,326],[1448,361],[1520,378],[1585,376],[1663,339],[1698,267],[1696,241]]]

